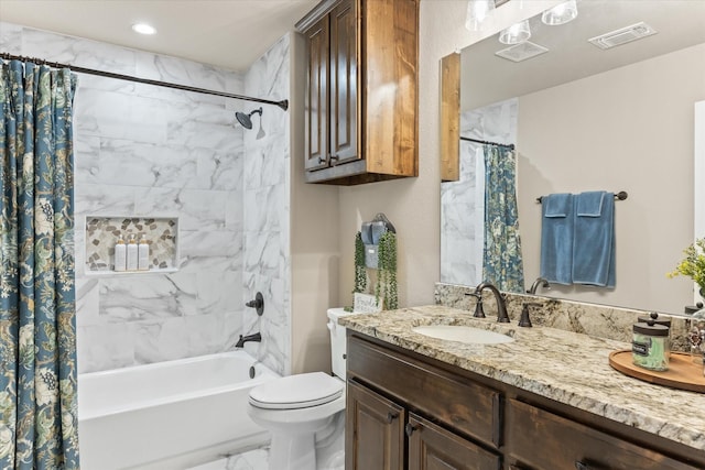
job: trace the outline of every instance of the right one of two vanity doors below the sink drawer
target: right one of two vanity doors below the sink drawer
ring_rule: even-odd
[[[410,414],[409,470],[499,470],[499,456],[488,452],[424,418]]]

